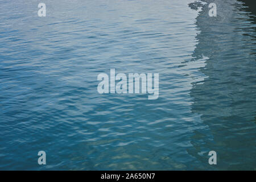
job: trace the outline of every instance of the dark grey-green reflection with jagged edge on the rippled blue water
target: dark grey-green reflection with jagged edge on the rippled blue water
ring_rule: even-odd
[[[207,5],[197,17],[201,32],[193,57],[209,59],[201,68],[207,78],[195,82],[190,93],[192,112],[201,115],[210,132],[195,131],[189,154],[203,162],[208,156],[201,151],[217,152],[217,166],[199,169],[255,170],[255,6],[214,2],[216,18],[208,18]]]

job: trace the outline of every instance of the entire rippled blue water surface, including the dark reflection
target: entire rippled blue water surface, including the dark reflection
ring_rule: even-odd
[[[256,169],[249,7],[43,2],[0,1],[0,169]],[[158,100],[99,94],[110,68],[159,73]]]

